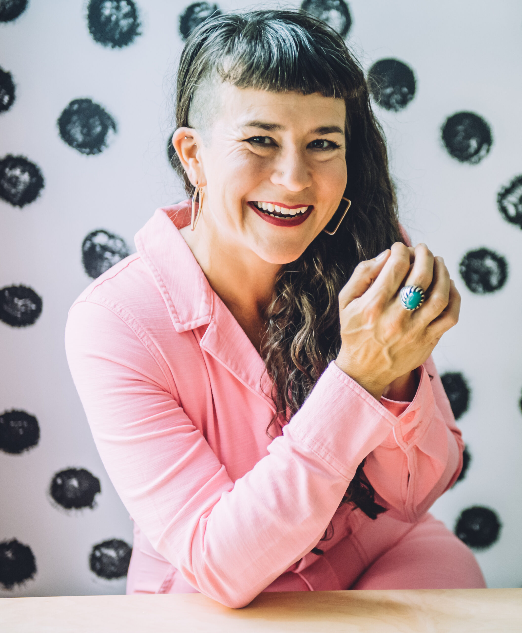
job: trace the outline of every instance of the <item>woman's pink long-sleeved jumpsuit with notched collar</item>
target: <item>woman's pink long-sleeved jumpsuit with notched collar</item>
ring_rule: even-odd
[[[82,292],[66,326],[97,449],[135,522],[127,591],[200,591],[241,607],[264,590],[379,576],[382,588],[429,588],[418,570],[432,550],[435,586],[484,586],[470,550],[427,514],[463,451],[432,360],[411,403],[378,402],[331,363],[272,441],[264,362],[179,234],[186,223],[187,203],[157,210],[137,253]],[[339,507],[365,457],[389,508],[375,521]]]

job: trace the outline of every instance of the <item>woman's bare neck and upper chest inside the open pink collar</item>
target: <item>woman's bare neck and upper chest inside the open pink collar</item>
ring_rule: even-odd
[[[231,311],[259,352],[266,329],[265,310],[272,301],[279,264],[262,260],[244,244],[222,234],[204,213],[194,231],[181,235],[201,266],[210,287]]]

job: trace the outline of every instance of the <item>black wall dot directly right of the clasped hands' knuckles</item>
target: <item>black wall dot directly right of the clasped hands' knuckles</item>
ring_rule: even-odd
[[[475,294],[500,290],[507,279],[507,261],[487,248],[469,251],[459,265],[464,284]]]

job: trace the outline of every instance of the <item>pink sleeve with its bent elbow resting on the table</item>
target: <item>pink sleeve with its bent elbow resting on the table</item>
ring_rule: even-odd
[[[398,424],[332,363],[268,454],[233,481],[181,406],[152,335],[123,308],[75,303],[66,352],[131,516],[193,587],[228,606],[248,604],[317,544],[360,461]]]

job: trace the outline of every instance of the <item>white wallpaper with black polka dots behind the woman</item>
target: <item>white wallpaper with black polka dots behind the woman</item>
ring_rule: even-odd
[[[198,24],[246,6],[0,0],[0,596],[124,592],[131,522],[70,378],[64,325],[155,208],[183,199],[176,61]],[[290,6],[360,58],[401,221],[463,297],[434,356],[464,468],[432,511],[490,587],[521,586],[522,6]]]

